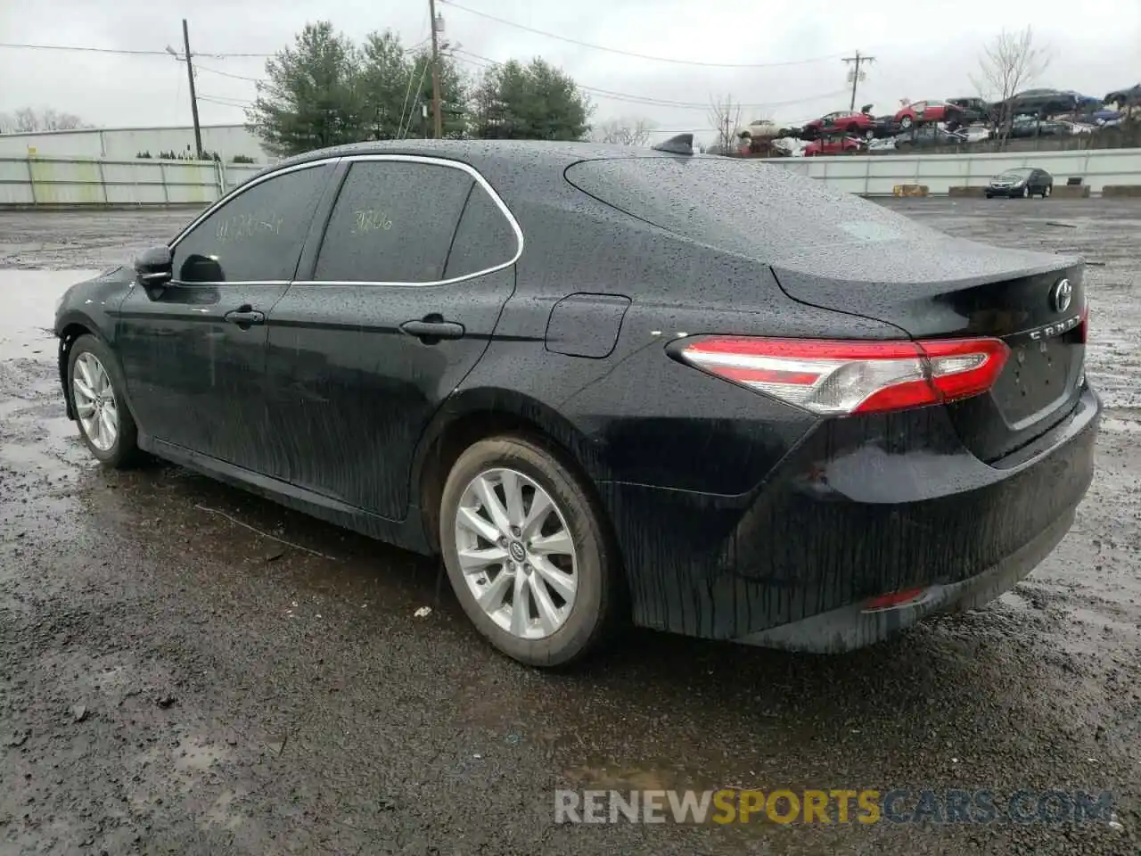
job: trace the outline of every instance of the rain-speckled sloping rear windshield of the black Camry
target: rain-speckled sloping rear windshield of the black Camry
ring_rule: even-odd
[[[718,249],[772,261],[806,248],[908,241],[901,215],[784,167],[722,158],[621,158],[566,171],[581,191]]]

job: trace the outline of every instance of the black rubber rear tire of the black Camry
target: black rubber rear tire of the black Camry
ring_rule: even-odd
[[[541,490],[552,504],[552,511],[544,516],[545,525],[531,531],[526,525],[509,527],[510,531],[503,533],[503,526],[493,523],[497,514],[488,511],[482,500],[476,500],[477,496],[486,498],[491,485],[489,490],[499,502],[496,511],[505,512],[511,519],[510,503],[504,501],[509,474],[513,474],[511,483],[520,485],[520,499],[513,516],[526,517],[533,511]],[[478,484],[479,479],[485,479],[483,485]],[[528,486],[533,488],[529,494],[526,493]],[[504,492],[503,495],[500,491]],[[475,526],[461,522],[461,511],[464,520],[471,520],[471,515],[477,515],[479,520]],[[541,611],[540,590],[545,592],[549,606],[555,605],[552,595],[559,591],[547,582],[551,579],[550,570],[555,564],[549,556],[558,554],[542,557],[545,559],[542,566],[547,570],[540,573],[540,554],[532,552],[534,541],[543,540],[541,535],[536,539],[535,534],[547,526],[553,528],[555,536],[559,532],[568,534],[573,549],[570,571],[567,572],[566,559],[572,558],[568,555],[564,555],[556,566],[563,573],[557,579],[566,581],[573,578],[574,591],[573,600],[558,598],[566,612],[553,631],[536,627],[541,624],[537,617]],[[491,535],[496,536],[495,542],[489,540]],[[545,536],[548,540],[551,538],[550,534]],[[601,506],[574,466],[535,438],[523,435],[492,437],[475,443],[460,454],[448,473],[440,499],[439,541],[448,580],[463,611],[492,645],[520,663],[555,668],[581,662],[601,647],[617,625],[623,601],[621,563]],[[491,556],[493,564],[477,565],[475,570],[469,565],[466,571],[460,559],[461,541],[467,544],[466,556],[483,551]],[[513,564],[513,573],[509,572],[508,563],[518,560],[519,555],[536,564]],[[502,560],[497,567],[494,564],[496,557]],[[528,570],[524,573],[523,568]],[[503,574],[507,576],[501,583]],[[510,605],[505,601],[507,588],[511,589]],[[480,605],[480,597],[496,604],[499,592],[503,593],[503,601],[497,609]],[[516,624],[515,598],[520,595],[526,611],[519,623],[525,622],[525,628]],[[509,614],[504,609],[509,609]],[[528,637],[528,633],[532,636]],[[543,635],[535,637],[534,633]]]

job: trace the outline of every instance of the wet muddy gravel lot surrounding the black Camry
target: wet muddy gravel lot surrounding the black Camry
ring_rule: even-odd
[[[55,298],[187,211],[0,212],[0,853],[1138,853],[1141,204],[888,201],[1090,263],[1098,474],[986,609],[833,657],[631,631],[520,668],[435,563],[94,465]],[[426,617],[416,617],[421,607]],[[556,824],[559,788],[1109,790],[1085,823]]]

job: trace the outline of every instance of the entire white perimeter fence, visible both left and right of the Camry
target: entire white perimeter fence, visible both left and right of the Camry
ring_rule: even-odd
[[[890,154],[863,158],[783,158],[764,163],[867,196],[891,195],[899,184],[945,194],[982,186],[1014,167],[1041,167],[1058,184],[1081,176],[1093,193],[1106,185],[1141,184],[1141,148],[1083,152]],[[264,167],[216,161],[0,156],[0,205],[207,204]]]

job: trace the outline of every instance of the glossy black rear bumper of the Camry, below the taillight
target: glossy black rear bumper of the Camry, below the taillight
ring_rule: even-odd
[[[739,496],[601,483],[638,624],[810,651],[871,644],[1028,574],[1093,477],[1089,388],[1029,446],[989,466],[944,407],[824,421]],[[864,613],[867,598],[929,587]]]

